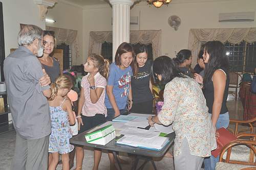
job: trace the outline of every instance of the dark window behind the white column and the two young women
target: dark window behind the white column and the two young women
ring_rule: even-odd
[[[140,45],[140,43],[132,44],[132,45],[134,48],[137,48]],[[101,46],[101,55],[104,58],[109,59],[111,63],[113,61],[112,46],[113,46],[113,43],[109,43],[109,42],[103,42]],[[147,46],[147,52],[148,52],[147,58],[153,60],[152,44],[150,43],[150,44],[147,44],[146,46]]]

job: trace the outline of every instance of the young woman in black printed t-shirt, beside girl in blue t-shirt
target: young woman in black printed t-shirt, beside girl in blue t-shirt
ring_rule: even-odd
[[[136,57],[132,65],[133,107],[131,112],[152,114],[151,66],[153,61],[147,59],[146,45],[140,45],[136,48],[135,55]]]

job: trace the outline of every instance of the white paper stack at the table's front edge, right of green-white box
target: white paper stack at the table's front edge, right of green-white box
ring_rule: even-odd
[[[156,136],[152,139],[144,139],[133,136],[123,136],[116,143],[130,145],[132,147],[139,147],[150,150],[161,150],[167,143],[169,139],[167,137]]]

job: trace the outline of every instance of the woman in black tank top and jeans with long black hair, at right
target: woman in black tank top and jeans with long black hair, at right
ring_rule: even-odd
[[[205,43],[203,59],[205,63],[205,76],[195,74],[198,83],[203,84],[203,93],[209,109],[212,124],[215,130],[229,125],[229,115],[226,106],[229,76],[228,57],[225,46],[220,41]],[[204,160],[205,169],[215,169],[219,157],[210,156]]]

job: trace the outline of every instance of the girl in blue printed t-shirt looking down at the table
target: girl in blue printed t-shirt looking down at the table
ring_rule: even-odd
[[[131,77],[133,75],[131,63],[134,61],[134,50],[130,43],[121,43],[116,51],[115,62],[110,65],[110,74],[106,86],[105,105],[107,120],[125,114],[127,99],[131,109],[133,98]]]

